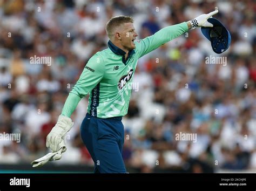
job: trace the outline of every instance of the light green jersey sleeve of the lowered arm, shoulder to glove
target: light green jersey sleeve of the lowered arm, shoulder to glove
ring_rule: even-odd
[[[87,95],[102,80],[105,72],[105,65],[102,56],[95,54],[84,67],[76,85],[72,88],[65,101],[62,115],[70,117],[75,111],[79,101]]]

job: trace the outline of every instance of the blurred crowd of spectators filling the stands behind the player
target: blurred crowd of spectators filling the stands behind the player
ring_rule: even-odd
[[[106,22],[130,15],[139,39],[165,26],[189,21],[218,6],[215,15],[232,43],[212,51],[200,29],[142,57],[123,118],[127,168],[139,172],[216,172],[256,169],[255,1],[0,0],[0,133],[20,133],[21,142],[0,140],[1,163],[30,163],[50,152],[46,135],[87,60],[107,48]],[[51,57],[51,65],[30,57]],[[206,57],[227,63],[206,64]],[[87,97],[72,114],[68,150],[56,165],[93,166],[80,139]],[[179,141],[179,133],[197,141]],[[160,170],[160,171],[157,171]]]

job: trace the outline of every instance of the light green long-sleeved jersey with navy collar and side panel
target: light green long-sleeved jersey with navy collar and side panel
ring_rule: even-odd
[[[79,100],[88,93],[87,112],[98,118],[124,116],[131,95],[132,78],[138,59],[188,30],[186,22],[168,26],[154,35],[134,42],[136,48],[125,52],[111,41],[109,48],[94,54],[70,92],[62,114],[70,117]]]

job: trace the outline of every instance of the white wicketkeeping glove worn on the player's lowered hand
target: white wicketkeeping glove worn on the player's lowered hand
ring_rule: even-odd
[[[60,142],[64,142],[64,137],[71,127],[74,125],[69,117],[59,115],[57,124],[52,128],[51,132],[46,137],[46,147],[50,147],[53,152],[59,151]],[[64,147],[63,152],[66,151]]]

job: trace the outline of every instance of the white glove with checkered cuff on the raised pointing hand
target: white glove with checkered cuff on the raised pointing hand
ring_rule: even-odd
[[[194,18],[192,20],[190,20],[189,22],[191,23],[191,28],[194,29],[195,27],[213,27],[212,23],[209,23],[207,21],[208,18],[212,17],[213,15],[215,15],[216,13],[218,13],[218,9],[215,9],[215,11],[212,11],[208,14],[203,14],[198,16],[197,18]]]

